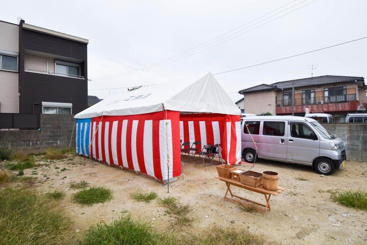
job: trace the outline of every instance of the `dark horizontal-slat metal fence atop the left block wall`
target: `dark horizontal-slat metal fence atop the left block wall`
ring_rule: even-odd
[[[0,128],[39,129],[40,127],[40,114],[0,113]]]

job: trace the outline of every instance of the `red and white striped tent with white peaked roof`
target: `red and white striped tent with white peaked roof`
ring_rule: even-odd
[[[181,139],[200,141],[200,149],[220,143],[222,158],[235,164],[241,161],[240,113],[211,73],[142,87],[76,114],[76,153],[167,180],[181,175]]]

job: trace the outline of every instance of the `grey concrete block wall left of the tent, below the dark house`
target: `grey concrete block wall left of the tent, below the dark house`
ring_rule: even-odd
[[[41,130],[1,130],[0,141],[23,154],[43,152],[48,147],[68,149],[74,124],[74,115],[41,114]],[[71,149],[75,149],[75,130]]]

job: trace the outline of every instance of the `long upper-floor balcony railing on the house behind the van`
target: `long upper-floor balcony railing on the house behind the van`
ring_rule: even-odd
[[[349,102],[356,101],[356,94],[331,95],[320,97],[309,97],[294,99],[295,106],[303,105],[320,105],[326,103]],[[276,101],[276,107],[292,106],[292,99],[282,99]]]

